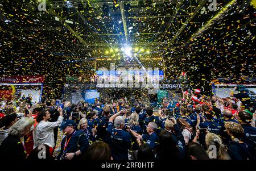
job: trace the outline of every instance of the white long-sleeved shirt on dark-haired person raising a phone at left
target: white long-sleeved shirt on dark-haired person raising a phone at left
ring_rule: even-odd
[[[63,116],[59,116],[56,122],[40,121],[33,131],[34,148],[38,145],[50,144],[51,147],[55,146],[53,128],[61,125]]]

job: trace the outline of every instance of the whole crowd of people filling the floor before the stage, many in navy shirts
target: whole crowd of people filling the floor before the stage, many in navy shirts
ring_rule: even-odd
[[[158,109],[129,98],[7,102],[1,106],[0,158],[255,160],[255,101],[240,97],[184,91],[179,102],[163,99]]]

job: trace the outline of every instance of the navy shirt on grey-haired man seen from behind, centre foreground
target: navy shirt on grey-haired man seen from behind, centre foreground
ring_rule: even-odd
[[[128,149],[131,148],[131,136],[129,132],[114,128],[113,122],[109,122],[108,134],[109,146],[114,160],[128,160]]]

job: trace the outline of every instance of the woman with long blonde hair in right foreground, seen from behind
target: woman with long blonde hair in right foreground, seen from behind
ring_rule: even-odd
[[[205,143],[207,145],[207,153],[212,151],[211,147],[216,147],[216,159],[218,160],[230,160],[228,152],[226,151],[225,145],[222,144],[221,138],[213,133],[208,133],[205,136]],[[213,146],[211,146],[213,145]],[[213,148],[214,149],[214,148]]]

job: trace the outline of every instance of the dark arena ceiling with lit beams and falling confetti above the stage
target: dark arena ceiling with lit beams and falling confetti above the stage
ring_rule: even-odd
[[[212,2],[217,2],[216,10],[209,10]],[[231,77],[227,69],[240,73],[244,68],[247,76],[255,73],[256,5],[250,0],[46,0],[46,11],[39,11],[43,6],[36,0],[0,0],[0,4],[5,70],[1,74],[20,66],[43,70],[48,59],[57,64],[78,62],[78,66],[86,62],[91,68],[93,60],[102,59],[102,65],[107,58],[122,63],[126,57],[121,48],[128,46],[133,51],[139,48],[134,52],[137,57],[129,59],[134,64],[149,57],[151,65],[163,66],[166,61],[166,69],[179,73],[189,73],[205,62],[212,65],[207,69],[211,76]],[[111,48],[117,52],[106,54]],[[24,64],[20,58],[26,59]],[[173,62],[177,59],[179,63]],[[35,67],[36,62],[42,65]]]

